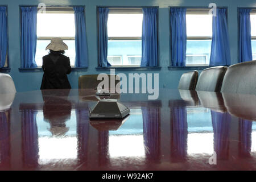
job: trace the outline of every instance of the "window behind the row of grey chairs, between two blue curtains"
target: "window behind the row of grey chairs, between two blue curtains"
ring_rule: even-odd
[[[212,45],[212,15],[207,10],[188,9],[186,14],[186,66],[208,66]]]

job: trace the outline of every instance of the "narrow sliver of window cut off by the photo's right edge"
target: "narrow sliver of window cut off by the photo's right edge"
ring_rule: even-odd
[[[251,52],[253,53],[253,60],[256,60],[256,10],[251,10]]]

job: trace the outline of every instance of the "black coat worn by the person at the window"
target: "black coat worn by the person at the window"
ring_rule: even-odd
[[[55,60],[55,61],[54,61]],[[67,74],[71,72],[69,57],[49,54],[43,57],[42,89],[70,89]]]

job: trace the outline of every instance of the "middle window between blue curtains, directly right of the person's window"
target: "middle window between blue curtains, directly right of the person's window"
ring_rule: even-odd
[[[141,65],[142,18],[142,9],[109,9],[108,61],[112,66]]]

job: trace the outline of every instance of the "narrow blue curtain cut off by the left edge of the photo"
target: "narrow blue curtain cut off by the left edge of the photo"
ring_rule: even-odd
[[[7,17],[6,7],[0,7],[0,68],[5,66],[7,53]]]

